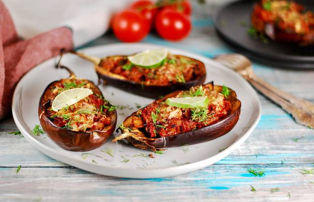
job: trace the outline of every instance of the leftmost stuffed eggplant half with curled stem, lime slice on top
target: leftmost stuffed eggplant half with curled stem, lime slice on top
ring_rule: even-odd
[[[66,150],[98,148],[114,132],[116,109],[92,81],[78,79],[71,70],[59,66],[66,69],[70,77],[54,81],[44,90],[38,108],[40,124],[48,137]],[[68,97],[72,103],[61,108],[57,101],[62,103]]]

